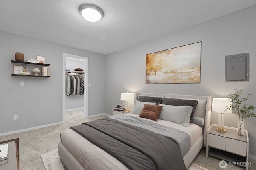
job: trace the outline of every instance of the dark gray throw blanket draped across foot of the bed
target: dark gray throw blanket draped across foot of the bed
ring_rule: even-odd
[[[130,170],[186,170],[176,142],[108,117],[70,127]]]

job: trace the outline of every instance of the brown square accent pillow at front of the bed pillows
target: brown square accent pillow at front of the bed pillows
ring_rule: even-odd
[[[139,117],[157,121],[162,107],[163,106],[159,105],[144,104],[143,110],[141,111]]]

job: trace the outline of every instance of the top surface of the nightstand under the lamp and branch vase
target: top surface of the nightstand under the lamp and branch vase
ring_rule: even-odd
[[[218,132],[216,130],[217,127],[218,127],[218,125],[212,125],[212,128],[210,129],[210,131],[208,133],[247,142],[246,130],[244,131],[244,135],[240,136],[240,135],[237,135],[237,130],[228,129],[228,128],[224,127],[226,129],[226,132]]]

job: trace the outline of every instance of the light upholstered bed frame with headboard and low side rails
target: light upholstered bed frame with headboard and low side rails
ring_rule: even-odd
[[[186,168],[190,166],[198,152],[202,147],[206,147],[206,132],[210,127],[211,119],[211,96],[192,96],[192,95],[177,95],[177,94],[152,94],[152,93],[136,93],[136,99],[139,96],[152,96],[152,97],[166,97],[166,98],[181,98],[181,99],[194,99],[194,100],[206,100],[206,113],[204,118],[204,129],[200,138],[191,146],[188,153],[183,157]],[[82,165],[76,160],[76,158],[66,149],[66,147],[60,142],[58,144],[58,154],[60,160],[68,170],[85,170]]]

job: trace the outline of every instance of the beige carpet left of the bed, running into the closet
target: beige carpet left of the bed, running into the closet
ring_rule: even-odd
[[[84,110],[67,111],[65,123],[2,136],[0,137],[0,141],[19,138],[20,170],[44,170],[45,168],[40,154],[58,148],[60,133],[62,131],[68,129],[70,126],[80,125],[86,121],[106,117],[106,115],[101,115],[85,118],[83,115]]]

